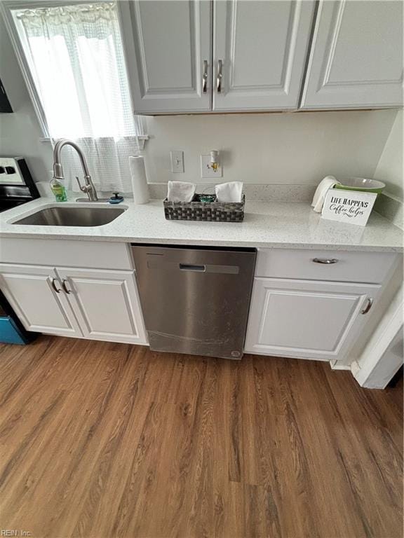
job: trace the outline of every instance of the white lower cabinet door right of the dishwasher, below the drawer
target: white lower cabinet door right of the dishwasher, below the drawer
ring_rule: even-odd
[[[245,352],[340,359],[366,322],[379,286],[255,278]],[[365,313],[362,313],[365,312]]]

